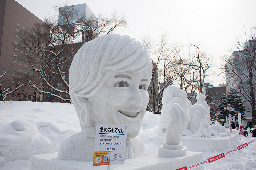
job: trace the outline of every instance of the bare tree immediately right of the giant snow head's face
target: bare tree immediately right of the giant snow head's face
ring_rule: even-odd
[[[163,91],[172,83],[174,77],[171,73],[174,49],[170,46],[166,33],[161,36],[159,44],[153,44],[150,38],[143,38],[142,42],[147,46],[153,61],[152,80],[148,90],[150,96],[148,110],[160,114]],[[159,87],[161,88],[159,89]]]

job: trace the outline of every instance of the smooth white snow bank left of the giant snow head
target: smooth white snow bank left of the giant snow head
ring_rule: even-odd
[[[64,138],[81,131],[76,112],[67,103],[13,101],[1,103],[0,112],[2,162],[57,152]]]

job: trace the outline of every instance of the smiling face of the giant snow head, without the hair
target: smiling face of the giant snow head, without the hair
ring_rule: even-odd
[[[128,125],[127,137],[136,137],[149,101],[149,83],[147,71],[114,72],[106,84],[88,98],[94,120],[101,124]]]

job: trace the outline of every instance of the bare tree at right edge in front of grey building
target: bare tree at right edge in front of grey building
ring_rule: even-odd
[[[256,116],[256,34],[251,35],[251,39],[246,43],[237,41],[238,51],[234,51],[230,57],[224,57],[226,62],[221,68],[226,74],[228,83],[234,84],[232,88],[238,89],[244,97],[245,102],[250,103],[251,108],[246,111],[252,112],[252,117]]]

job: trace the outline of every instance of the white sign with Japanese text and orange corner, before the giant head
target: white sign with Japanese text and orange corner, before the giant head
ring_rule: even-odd
[[[124,164],[127,126],[97,124],[92,166]]]

